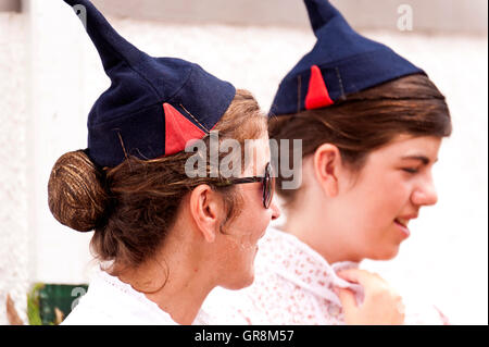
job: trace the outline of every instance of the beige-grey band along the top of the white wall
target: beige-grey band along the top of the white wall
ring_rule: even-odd
[[[3,0],[5,1],[5,0]],[[9,1],[9,0],[8,0]],[[13,1],[13,0],[10,0]],[[393,14],[402,4],[416,13],[416,30],[484,33],[487,0],[330,0],[361,29],[397,29]],[[93,0],[103,13],[164,23],[225,23],[309,28],[302,0]]]

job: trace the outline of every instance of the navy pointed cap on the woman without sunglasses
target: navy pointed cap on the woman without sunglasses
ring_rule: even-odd
[[[281,80],[271,115],[319,109],[379,84],[425,74],[389,47],[358,34],[328,0],[304,0],[317,37]]]

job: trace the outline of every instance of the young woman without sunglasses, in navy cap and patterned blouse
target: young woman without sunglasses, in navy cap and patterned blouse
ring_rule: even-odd
[[[437,202],[431,169],[451,133],[444,98],[328,1],[305,4],[317,44],[281,82],[269,122],[280,146],[302,140],[302,185],[286,189],[278,175],[287,218],[260,243],[255,283],[220,292],[220,307],[211,297],[206,311],[213,322],[249,324],[443,323],[436,310],[408,302],[404,311],[383,278],[356,268],[396,257],[409,222]]]

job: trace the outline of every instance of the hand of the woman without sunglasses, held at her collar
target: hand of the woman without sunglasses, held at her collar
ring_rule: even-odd
[[[401,296],[378,274],[365,270],[343,270],[338,275],[363,286],[365,297],[361,306],[350,289],[336,287],[343,306],[344,320],[350,325],[398,325],[404,323]]]

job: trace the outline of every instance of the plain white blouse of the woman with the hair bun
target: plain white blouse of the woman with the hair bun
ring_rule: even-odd
[[[168,313],[115,276],[99,270],[66,325],[175,325]]]

